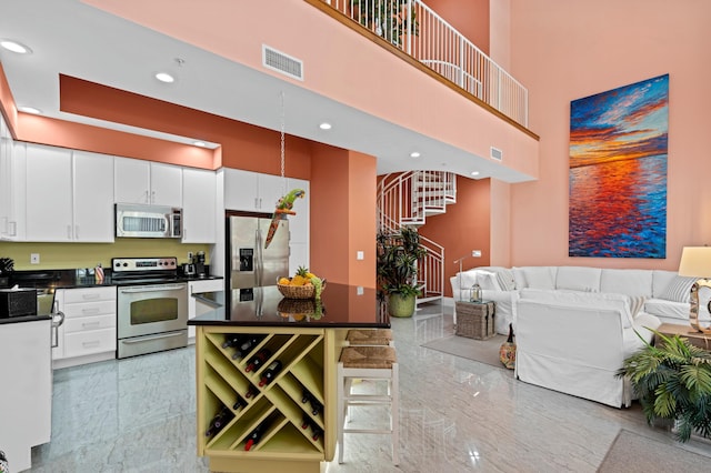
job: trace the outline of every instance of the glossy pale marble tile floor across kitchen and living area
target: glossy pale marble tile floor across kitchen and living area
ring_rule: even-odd
[[[675,443],[625,410],[515,381],[420,346],[453,334],[451,306],[392,320],[400,362],[400,465],[389,436],[347,434],[346,472],[594,472],[620,429]],[[472,341],[475,343],[475,341]],[[57,370],[52,441],[31,472],[208,472],[196,456],[194,349]],[[711,444],[685,449],[711,456]],[[10,465],[11,466],[11,465]]]

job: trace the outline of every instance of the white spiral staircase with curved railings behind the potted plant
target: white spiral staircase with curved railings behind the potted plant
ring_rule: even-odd
[[[429,215],[443,213],[457,202],[457,177],[442,171],[410,171],[388,174],[378,183],[378,230],[397,233],[404,225],[421,227]],[[444,248],[420,235],[427,254],[418,261],[417,303],[442,299],[444,294]]]

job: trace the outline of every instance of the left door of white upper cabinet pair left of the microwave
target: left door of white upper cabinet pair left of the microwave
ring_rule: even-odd
[[[26,143],[26,241],[73,240],[71,151]]]

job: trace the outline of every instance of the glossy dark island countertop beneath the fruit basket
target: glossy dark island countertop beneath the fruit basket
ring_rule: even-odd
[[[188,321],[189,325],[389,328],[390,318],[374,289],[329,283],[320,304],[284,299],[276,285],[203,293],[207,303],[220,304]],[[209,301],[209,302],[208,302]]]

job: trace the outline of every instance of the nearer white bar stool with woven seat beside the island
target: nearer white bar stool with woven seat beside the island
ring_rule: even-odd
[[[337,369],[338,392],[338,462],[343,463],[344,433],[389,433],[392,435],[392,462],[400,463],[398,445],[400,442],[398,358],[392,346],[347,346],[341,351]],[[360,394],[351,390],[353,380],[387,382],[388,392],[381,394]],[[371,429],[349,429],[346,426],[349,406],[385,405],[390,409],[390,426]]]

